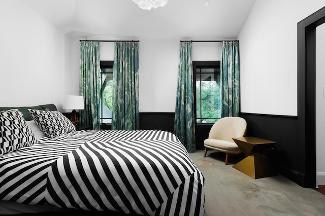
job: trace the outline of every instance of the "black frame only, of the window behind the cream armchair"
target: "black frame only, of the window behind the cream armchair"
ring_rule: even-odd
[[[198,123],[197,122],[197,68],[219,68],[220,61],[192,61],[192,72],[193,72],[193,94],[194,94],[194,121],[196,125],[213,125],[214,123]]]

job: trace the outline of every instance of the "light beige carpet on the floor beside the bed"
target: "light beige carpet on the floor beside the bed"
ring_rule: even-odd
[[[230,158],[203,150],[189,154],[205,177],[205,216],[325,215],[325,196],[281,176],[253,179],[233,168],[243,156]]]

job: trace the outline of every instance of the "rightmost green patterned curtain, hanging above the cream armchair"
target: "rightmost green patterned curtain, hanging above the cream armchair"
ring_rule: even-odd
[[[221,117],[239,115],[239,42],[221,43]]]

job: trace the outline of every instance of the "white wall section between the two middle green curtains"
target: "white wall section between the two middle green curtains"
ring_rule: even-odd
[[[141,40],[140,112],[175,112],[179,41]]]

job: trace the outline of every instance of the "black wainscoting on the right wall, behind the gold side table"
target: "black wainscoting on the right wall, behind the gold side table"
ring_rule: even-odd
[[[263,155],[281,175],[304,187],[305,167],[302,161],[304,141],[298,140],[298,117],[240,113],[247,122],[246,136],[276,141],[275,149],[266,150]]]

